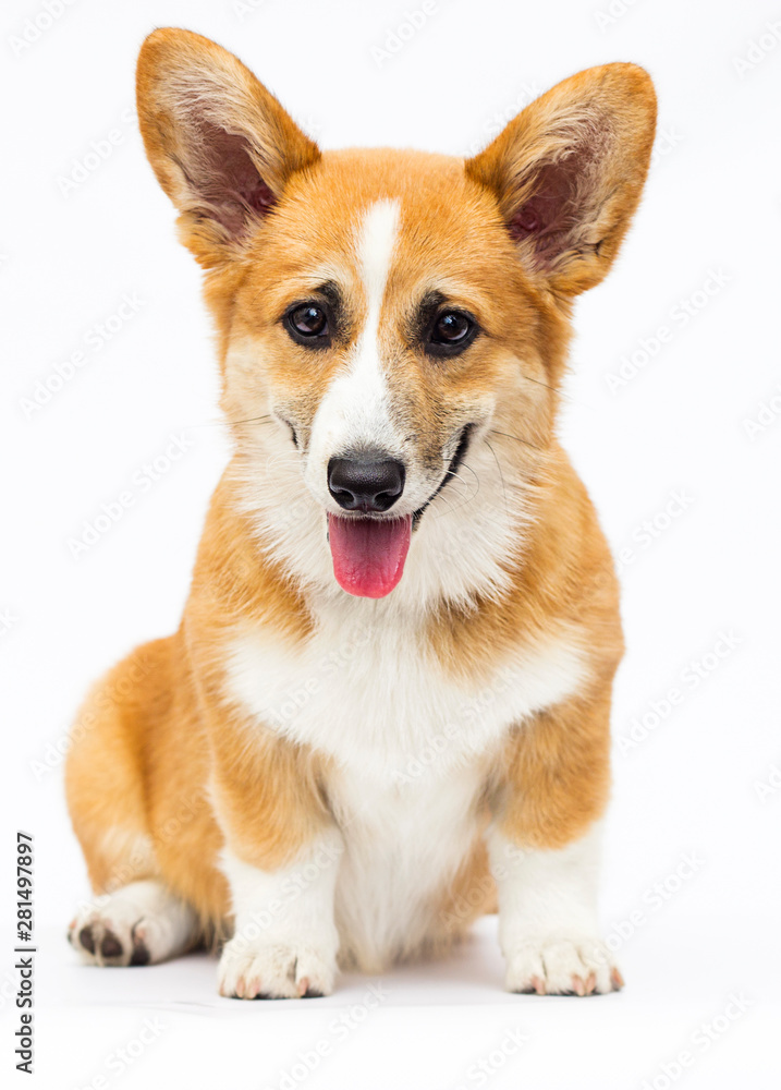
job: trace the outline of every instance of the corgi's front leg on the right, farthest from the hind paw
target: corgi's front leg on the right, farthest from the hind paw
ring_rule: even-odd
[[[511,992],[621,986],[597,920],[609,715],[609,690],[572,700],[524,724],[508,748],[489,851]]]

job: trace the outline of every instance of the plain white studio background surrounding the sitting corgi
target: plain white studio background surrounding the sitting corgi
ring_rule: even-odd
[[[417,8],[75,0],[21,47],[42,4],[3,7],[0,869],[8,908],[14,829],[32,831],[38,1086],[284,1087],[298,1053],[324,1039],[330,1054],[288,1086],[778,1086],[781,8],[438,0],[400,50],[373,52]],[[237,52],[325,147],[469,154],[579,69],[631,60],[656,82],[658,154],[619,262],[578,304],[561,422],[614,549],[633,556],[603,896],[621,995],[505,996],[490,920],[451,962],[391,974],[388,998],[345,1041],[331,1022],[362,1002],[359,978],[328,1001],[242,1005],[216,997],[207,958],[75,967],[62,936],[86,879],[58,747],[89,681],[176,626],[227,455],[199,274],[127,112],[138,47],[167,24]],[[84,178],[93,142],[106,152],[110,134],[111,154]],[[137,313],[96,348],[96,324],[125,293]],[[48,403],[26,405],[75,351],[84,365]],[[645,366],[611,391],[608,376],[633,355]],[[151,486],[134,483],[182,433],[181,459]],[[129,488],[121,521],[74,557],[69,540]],[[668,508],[675,492],[684,502]],[[732,650],[713,657],[722,632]],[[671,688],[675,707],[663,703]],[[656,726],[619,746],[644,716]],[[11,947],[9,931],[0,1077],[22,1085]],[[731,1019],[737,992],[746,1009]],[[109,1066],[161,1012],[164,1028],[132,1066]],[[715,1018],[723,1032],[706,1046],[698,1027]],[[527,1040],[510,1054],[512,1028]]]

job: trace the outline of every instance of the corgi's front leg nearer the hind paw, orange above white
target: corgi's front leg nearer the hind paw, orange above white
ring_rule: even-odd
[[[333,898],[341,834],[298,747],[269,736],[240,762],[229,761],[225,748],[217,755],[212,798],[225,836],[234,931],[220,959],[220,993],[327,995],[339,948]]]

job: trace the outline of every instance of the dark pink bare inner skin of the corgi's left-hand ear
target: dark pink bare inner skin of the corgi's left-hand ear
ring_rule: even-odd
[[[200,119],[197,178],[192,179],[208,209],[235,239],[252,231],[253,219],[260,218],[277,203],[249,158],[244,136],[229,133]]]

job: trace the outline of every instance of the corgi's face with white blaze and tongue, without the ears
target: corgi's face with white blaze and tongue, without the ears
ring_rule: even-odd
[[[443,157],[324,155],[254,240],[225,409],[281,425],[274,443],[261,436],[288,456],[272,472],[297,463],[324,544],[330,516],[345,589],[396,584],[432,500],[453,501],[471,444],[500,426],[500,402],[520,402],[520,433],[537,445],[536,295],[487,194]]]

